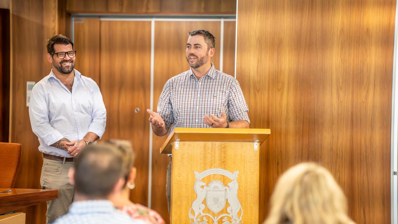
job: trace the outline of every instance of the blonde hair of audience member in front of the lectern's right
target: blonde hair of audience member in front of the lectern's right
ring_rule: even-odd
[[[316,163],[300,163],[278,180],[264,224],[352,224],[347,200],[332,174]]]

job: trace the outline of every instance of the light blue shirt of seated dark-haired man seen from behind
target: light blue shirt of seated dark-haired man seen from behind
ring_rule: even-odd
[[[67,214],[53,224],[145,224],[134,220],[127,213],[116,210],[109,200],[75,201]]]

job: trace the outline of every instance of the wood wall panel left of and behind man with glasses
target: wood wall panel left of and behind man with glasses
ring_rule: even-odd
[[[11,81],[10,141],[20,143],[21,166],[16,188],[40,189],[42,166],[39,141],[30,126],[26,107],[26,82],[40,81],[48,75],[51,64],[45,55],[45,40],[57,32],[57,0],[10,1],[11,18]],[[21,210],[26,223],[45,223],[46,203]]]

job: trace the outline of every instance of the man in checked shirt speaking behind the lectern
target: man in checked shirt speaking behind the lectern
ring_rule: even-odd
[[[215,37],[207,30],[189,32],[185,71],[169,79],[158,101],[157,113],[147,110],[157,136],[174,128],[249,128],[248,106],[234,77],[215,69]],[[171,157],[171,155],[169,155]],[[170,213],[171,169],[167,167],[166,196]]]

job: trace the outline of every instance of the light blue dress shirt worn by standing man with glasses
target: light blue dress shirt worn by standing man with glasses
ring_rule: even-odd
[[[102,137],[106,109],[100,88],[92,79],[74,70],[72,92],[51,73],[32,89],[29,117],[39,138],[39,151],[71,157],[65,150],[50,146],[62,138],[82,140],[88,132]]]

